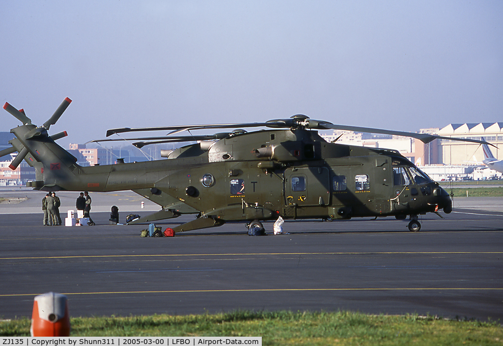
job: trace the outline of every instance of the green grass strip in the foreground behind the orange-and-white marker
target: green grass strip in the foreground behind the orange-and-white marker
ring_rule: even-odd
[[[70,336],[262,336],[264,345],[501,345],[497,322],[339,312],[73,317]],[[0,321],[0,335],[29,336],[30,319]]]

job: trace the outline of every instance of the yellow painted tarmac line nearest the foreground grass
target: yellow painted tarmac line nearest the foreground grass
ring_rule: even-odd
[[[67,296],[85,296],[95,294],[159,294],[159,293],[231,293],[231,292],[330,292],[330,291],[503,291],[503,288],[258,288],[235,290],[162,290],[162,291],[115,291],[115,292],[73,292],[61,293]],[[37,296],[39,293],[0,294],[0,297]]]

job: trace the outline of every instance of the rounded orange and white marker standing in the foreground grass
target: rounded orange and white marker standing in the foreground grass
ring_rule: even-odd
[[[66,296],[49,292],[33,302],[31,336],[70,336],[70,316]]]

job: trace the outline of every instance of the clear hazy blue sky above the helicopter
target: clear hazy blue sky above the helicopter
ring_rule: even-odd
[[[109,128],[306,114],[417,131],[503,121],[501,1],[0,3],[0,101]],[[0,131],[19,121],[5,111]],[[153,135],[153,133],[152,133]]]

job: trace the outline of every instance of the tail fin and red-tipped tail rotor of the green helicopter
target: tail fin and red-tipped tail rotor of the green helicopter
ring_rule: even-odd
[[[16,138],[9,141],[11,148],[0,151],[0,156],[17,151],[17,156],[9,166],[11,169],[16,169],[23,159],[30,166],[35,167],[36,180],[27,185],[36,190],[64,190],[56,185],[56,181],[74,176],[73,170],[77,168],[75,163],[77,159],[54,142],[56,139],[65,137],[66,131],[53,136],[47,133],[49,127],[56,123],[70,103],[71,100],[66,98],[49,120],[40,127],[32,124],[31,119],[23,110],[18,111],[9,103],[4,105],[4,109],[20,120],[23,125],[11,130]]]

